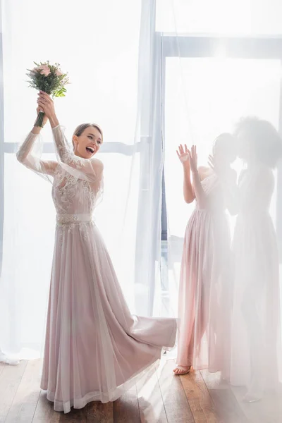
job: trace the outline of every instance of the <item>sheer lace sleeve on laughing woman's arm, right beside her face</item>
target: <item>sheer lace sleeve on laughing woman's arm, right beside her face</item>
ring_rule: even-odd
[[[68,168],[69,173],[92,183],[102,180],[102,161],[95,158],[82,159],[81,157],[75,156],[73,150],[68,145],[60,125],[53,128],[53,135],[59,159],[61,163],[65,165],[63,167]]]

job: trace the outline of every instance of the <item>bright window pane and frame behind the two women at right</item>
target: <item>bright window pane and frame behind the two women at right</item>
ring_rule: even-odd
[[[168,267],[176,266],[176,273],[171,271],[178,274],[185,225],[194,205],[183,201],[183,172],[176,148],[180,143],[197,144],[202,165],[207,163],[216,135],[232,130],[241,116],[266,118],[282,130],[282,39],[161,34],[161,40],[166,157],[162,256],[165,262],[171,242],[173,257],[168,258]],[[282,247],[281,178],[279,168],[271,215]],[[166,241],[168,235],[171,238]],[[168,289],[168,271],[163,270],[164,289]]]

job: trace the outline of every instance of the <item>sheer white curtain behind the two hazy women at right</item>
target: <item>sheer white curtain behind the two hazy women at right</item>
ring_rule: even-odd
[[[183,200],[183,169],[176,149],[180,143],[195,143],[200,166],[207,166],[215,137],[232,132],[242,116],[264,118],[281,130],[281,12],[281,2],[274,0],[157,1],[170,313],[177,314],[183,235],[195,207]],[[233,164],[238,173],[241,166]],[[281,238],[279,199],[275,192],[271,216]]]

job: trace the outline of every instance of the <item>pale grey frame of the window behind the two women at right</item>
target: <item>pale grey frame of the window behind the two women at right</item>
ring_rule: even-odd
[[[232,59],[264,59],[280,60],[280,106],[278,132],[282,136],[282,35],[271,37],[222,37],[221,35],[171,35],[161,33],[162,63],[161,75],[161,109],[162,109],[162,134],[163,148],[165,152],[165,81],[166,81],[166,58],[214,58],[221,52],[223,58]],[[161,240],[168,238],[166,220],[166,192],[163,177],[162,205],[161,205]],[[277,168],[277,202],[276,202],[276,234],[282,262],[282,164]]]

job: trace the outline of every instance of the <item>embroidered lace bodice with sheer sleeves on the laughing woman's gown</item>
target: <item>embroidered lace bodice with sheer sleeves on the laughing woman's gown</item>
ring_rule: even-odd
[[[60,126],[53,129],[58,161],[37,157],[37,135],[30,133],[17,153],[18,161],[36,173],[52,177],[52,197],[58,214],[92,214],[102,195],[103,164],[82,159],[69,147]]]

